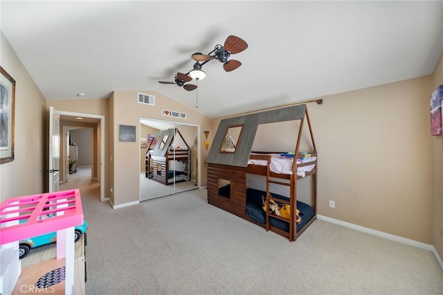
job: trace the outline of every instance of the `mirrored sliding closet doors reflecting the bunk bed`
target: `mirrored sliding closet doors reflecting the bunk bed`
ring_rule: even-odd
[[[200,126],[140,118],[140,201],[199,188]]]

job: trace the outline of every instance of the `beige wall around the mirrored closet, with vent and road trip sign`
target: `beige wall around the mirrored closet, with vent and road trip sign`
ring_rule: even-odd
[[[143,105],[137,102],[137,93],[143,92],[156,97],[156,105]],[[140,137],[139,118],[153,118],[159,120],[168,120],[168,117],[161,116],[161,109],[170,109],[173,111],[182,111],[188,114],[187,120],[175,119],[179,123],[196,124],[201,126],[201,138],[204,138],[203,130],[210,128],[212,121],[210,118],[200,114],[193,108],[181,105],[156,91],[114,91],[111,104],[111,116],[113,123],[112,136],[116,140],[112,143],[114,147],[114,175],[111,177],[111,188],[114,188],[114,205],[138,202],[139,184],[138,174],[140,171],[140,147],[138,141],[119,142],[118,125],[136,126],[136,138]],[[201,140],[202,141],[202,140]],[[201,147],[200,163],[208,151],[204,148],[204,143],[199,143]],[[201,166],[201,186],[206,186],[206,166]]]

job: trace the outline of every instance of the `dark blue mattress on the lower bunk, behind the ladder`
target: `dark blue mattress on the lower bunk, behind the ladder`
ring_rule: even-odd
[[[271,195],[276,198],[289,201],[288,197],[274,193],[271,193]],[[251,219],[257,223],[266,224],[266,213],[262,208],[262,196],[266,196],[266,192],[263,190],[255,190],[254,188],[246,189],[246,215],[251,217]],[[315,212],[314,208],[300,201],[297,201],[297,208],[300,211],[300,217],[302,217],[302,221],[297,224],[297,231],[299,231],[303,226],[305,226],[305,224],[307,224],[307,222],[309,222],[309,220],[311,220],[312,217],[314,217]],[[289,222],[271,217],[269,219],[269,223],[271,226],[289,233]]]

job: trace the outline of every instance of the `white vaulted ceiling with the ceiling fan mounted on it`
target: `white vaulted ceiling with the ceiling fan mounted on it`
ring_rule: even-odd
[[[188,73],[192,53],[241,37],[248,48],[230,59],[242,66],[203,67],[197,110],[210,117],[429,75],[443,51],[443,1],[0,5],[3,34],[49,100],[152,90],[195,107],[197,90],[158,81]]]

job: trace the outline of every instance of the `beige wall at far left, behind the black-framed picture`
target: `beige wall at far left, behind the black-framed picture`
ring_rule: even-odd
[[[46,100],[0,33],[0,61],[15,79],[15,160],[0,165],[1,201],[42,193],[46,181]]]

